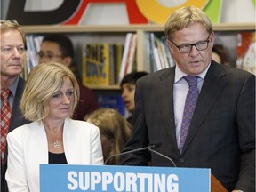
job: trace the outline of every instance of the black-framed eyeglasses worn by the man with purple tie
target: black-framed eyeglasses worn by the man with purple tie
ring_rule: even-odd
[[[172,42],[172,44],[174,44],[179,49],[179,51],[181,53],[188,53],[188,52],[191,52],[193,46],[195,46],[198,51],[203,51],[203,50],[207,49],[208,44],[210,42],[209,37],[210,37],[210,35],[208,36],[208,38],[206,40],[199,41],[196,44],[180,44],[180,45],[177,45],[174,42],[172,42],[172,41],[171,42]]]

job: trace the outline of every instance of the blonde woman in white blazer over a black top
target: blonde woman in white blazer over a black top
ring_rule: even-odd
[[[32,123],[7,135],[10,192],[39,191],[39,164],[103,164],[99,128],[69,118],[78,97],[66,66],[50,62],[30,71],[20,109]]]

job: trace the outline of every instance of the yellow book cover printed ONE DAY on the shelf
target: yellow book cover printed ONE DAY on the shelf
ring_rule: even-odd
[[[82,81],[84,85],[109,85],[109,44],[82,45]]]

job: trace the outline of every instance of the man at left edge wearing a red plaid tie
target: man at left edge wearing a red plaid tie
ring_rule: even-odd
[[[1,191],[7,192],[5,172],[7,168],[6,134],[22,124],[28,124],[20,112],[20,98],[25,80],[20,77],[25,60],[25,44],[20,25],[16,20],[1,20]],[[7,100],[4,101],[4,92]],[[5,104],[4,104],[5,103]],[[6,109],[5,107],[8,109]],[[6,115],[9,111],[9,115]]]

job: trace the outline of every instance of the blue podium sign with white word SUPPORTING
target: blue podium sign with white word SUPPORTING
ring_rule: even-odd
[[[210,192],[210,169],[40,164],[40,191]]]

